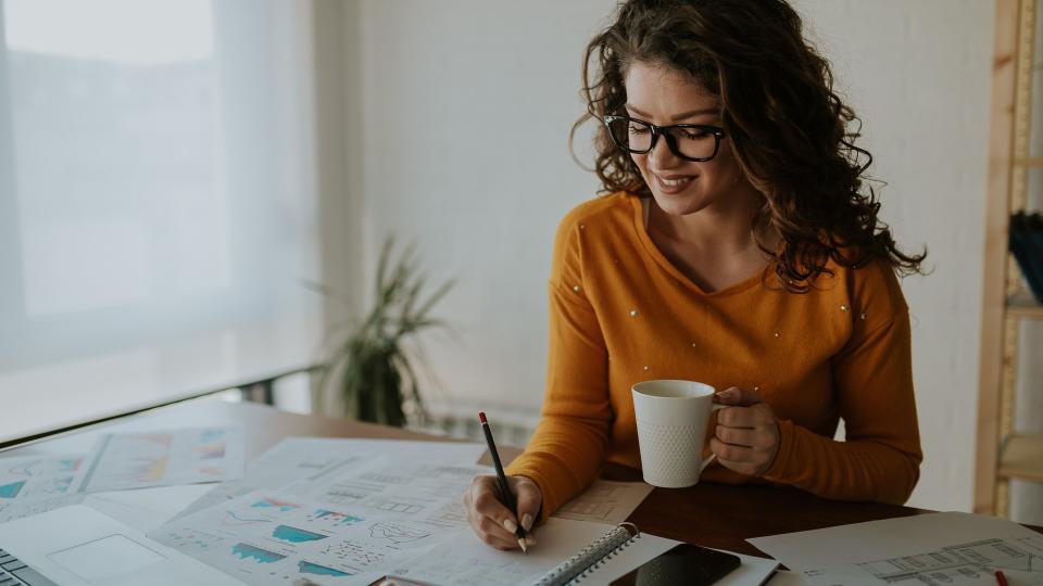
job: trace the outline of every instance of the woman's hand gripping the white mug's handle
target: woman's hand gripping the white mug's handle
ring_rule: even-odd
[[[717,431],[709,440],[717,460],[741,474],[767,472],[779,453],[779,424],[771,407],[753,391],[738,386],[714,395],[714,403],[729,406],[717,412]]]

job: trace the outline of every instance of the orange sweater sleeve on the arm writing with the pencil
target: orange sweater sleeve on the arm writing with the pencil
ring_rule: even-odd
[[[546,387],[540,423],[506,473],[532,479],[543,493],[540,522],[583,491],[601,468],[613,419],[608,354],[582,278],[581,230],[558,228],[549,284]]]

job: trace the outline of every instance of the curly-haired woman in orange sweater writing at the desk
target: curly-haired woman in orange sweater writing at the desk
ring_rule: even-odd
[[[577,126],[602,124],[607,195],[558,229],[542,419],[507,469],[517,514],[476,477],[476,533],[518,547],[516,523],[545,519],[604,461],[640,468],[630,387],[649,379],[724,390],[704,481],[904,502],[922,455],[896,273],[925,255],[879,221],[857,118],[797,14],[631,0],[585,64]]]

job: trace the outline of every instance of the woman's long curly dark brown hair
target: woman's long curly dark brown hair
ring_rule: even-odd
[[[592,63],[592,59],[596,63]],[[746,179],[764,195],[751,229],[775,257],[782,286],[805,292],[827,263],[856,268],[885,260],[899,275],[921,272],[902,253],[863,177],[872,155],[855,145],[862,120],[833,90],[829,63],[805,41],[801,17],[784,0],[630,0],[583,54],[587,113],[573,126],[619,114],[624,79],[640,62],[687,73],[719,98],[727,140]],[[853,129],[851,127],[854,127]],[[604,125],[594,138],[603,192],[651,192]],[[866,192],[863,192],[866,191]],[[782,237],[769,250],[759,234]]]

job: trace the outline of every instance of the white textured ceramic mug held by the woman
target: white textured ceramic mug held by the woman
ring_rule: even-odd
[[[630,391],[638,420],[638,447],[644,482],[663,488],[684,488],[715,455],[703,459],[709,413],[725,407],[714,403],[713,386],[693,381],[640,382]]]

